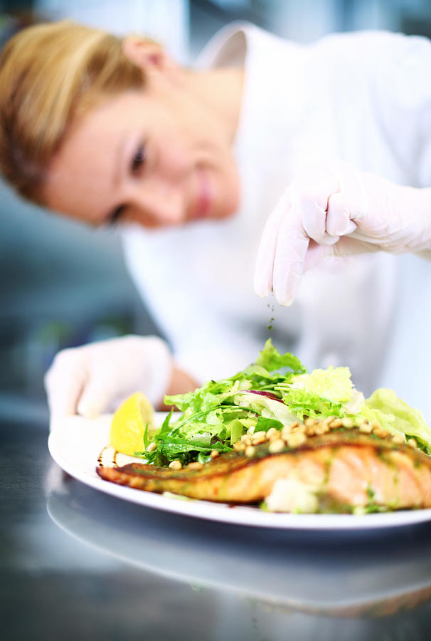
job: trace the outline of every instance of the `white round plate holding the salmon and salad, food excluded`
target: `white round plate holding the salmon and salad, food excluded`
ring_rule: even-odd
[[[161,422],[164,414],[159,414]],[[431,520],[431,509],[405,510],[382,514],[272,514],[255,507],[228,506],[209,501],[195,501],[173,495],[124,487],[100,479],[96,474],[100,452],[109,444],[112,416],[104,415],[94,420],[73,416],[55,424],[48,439],[51,456],[64,471],[78,481],[106,494],[117,496],[147,507],[176,514],[207,518],[212,521],[235,523],[265,528],[305,530],[358,530],[362,528],[387,528],[406,526]],[[119,464],[137,460],[122,456]]]

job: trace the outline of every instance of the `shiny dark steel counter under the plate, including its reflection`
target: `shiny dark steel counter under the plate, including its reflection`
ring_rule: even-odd
[[[307,533],[165,514],[1,424],[1,628],[10,640],[428,640],[431,524]]]

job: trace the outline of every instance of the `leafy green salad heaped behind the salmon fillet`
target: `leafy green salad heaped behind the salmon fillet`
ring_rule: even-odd
[[[166,396],[172,410],[150,440],[144,433],[144,450],[136,456],[157,466],[178,460],[183,466],[205,463],[211,452],[228,452],[244,434],[282,430],[307,418],[339,417],[353,425],[378,422],[392,434],[413,437],[431,454],[431,429],[422,413],[400,400],[393,390],[378,389],[365,399],[351,382],[348,368],[307,372],[290,353],[280,354],[270,339],[255,363],[235,376],[210,380],[202,387]]]

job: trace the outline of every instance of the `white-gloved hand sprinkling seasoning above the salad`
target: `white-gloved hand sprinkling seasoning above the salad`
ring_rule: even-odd
[[[255,293],[290,305],[302,273],[326,256],[431,250],[431,192],[341,161],[316,163],[289,184],[263,230]],[[429,257],[429,256],[427,256]]]

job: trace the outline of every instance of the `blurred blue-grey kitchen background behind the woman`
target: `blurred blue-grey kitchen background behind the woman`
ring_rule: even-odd
[[[22,26],[64,17],[145,33],[183,63],[238,19],[302,42],[364,28],[431,36],[431,0],[0,0],[0,46]],[[46,422],[43,373],[56,351],[158,329],[115,231],[54,217],[1,182],[0,221],[0,414]]]

